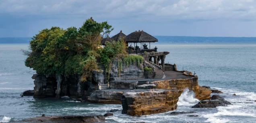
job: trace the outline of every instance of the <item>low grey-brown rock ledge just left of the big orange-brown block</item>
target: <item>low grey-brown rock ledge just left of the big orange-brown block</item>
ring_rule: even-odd
[[[101,104],[121,104],[122,94],[125,90],[96,90],[88,101]]]

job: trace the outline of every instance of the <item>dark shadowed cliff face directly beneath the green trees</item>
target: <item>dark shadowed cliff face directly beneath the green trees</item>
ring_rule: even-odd
[[[94,72],[93,80],[82,82],[81,76],[45,76],[43,74],[34,74],[35,84],[34,98],[61,97],[87,99],[92,92],[97,90],[97,85],[103,83],[102,73]],[[57,79],[56,79],[57,78]]]

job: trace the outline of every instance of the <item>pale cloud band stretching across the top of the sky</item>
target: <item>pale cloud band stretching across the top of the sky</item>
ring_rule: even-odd
[[[0,0],[0,14],[256,20],[256,0]],[[142,18],[140,18],[142,17]]]

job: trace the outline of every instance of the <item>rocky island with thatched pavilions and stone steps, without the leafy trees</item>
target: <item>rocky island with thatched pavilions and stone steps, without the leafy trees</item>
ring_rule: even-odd
[[[101,45],[121,39],[126,41],[128,56],[111,59],[107,68],[99,63],[100,70],[93,70],[87,81],[82,81],[80,74],[34,74],[34,98],[69,96],[93,103],[122,104],[122,113],[132,116],[175,110],[186,88],[199,100],[210,98],[212,91],[198,85],[198,76],[177,70],[175,64],[165,64],[169,52],[151,48],[150,44],[158,40],[144,31],[127,36],[120,31],[102,39]]]

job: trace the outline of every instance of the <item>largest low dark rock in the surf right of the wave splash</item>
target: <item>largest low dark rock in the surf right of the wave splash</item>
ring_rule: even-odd
[[[226,100],[203,100],[198,102],[198,104],[192,106],[192,108],[216,108],[219,106],[232,105]]]

